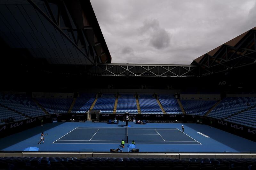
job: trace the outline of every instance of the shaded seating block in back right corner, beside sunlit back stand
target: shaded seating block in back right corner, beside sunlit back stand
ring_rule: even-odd
[[[180,100],[186,114],[205,115],[216,103],[216,100]]]

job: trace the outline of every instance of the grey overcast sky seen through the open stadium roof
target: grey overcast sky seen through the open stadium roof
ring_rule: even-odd
[[[190,64],[256,26],[255,0],[91,0],[112,63]]]

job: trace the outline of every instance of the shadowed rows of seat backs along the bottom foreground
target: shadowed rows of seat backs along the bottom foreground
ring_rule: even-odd
[[[162,170],[245,170],[255,169],[251,158],[83,158],[71,157],[5,157],[0,158],[2,169],[162,169]]]

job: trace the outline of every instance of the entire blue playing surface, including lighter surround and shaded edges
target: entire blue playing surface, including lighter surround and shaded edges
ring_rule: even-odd
[[[38,147],[40,151],[109,152],[120,148],[125,138],[125,122],[117,124],[57,122],[37,126],[0,139],[1,151],[24,151]],[[256,152],[256,142],[207,125],[185,123],[129,122],[128,143],[135,141],[140,152]],[[48,133],[45,143],[39,142],[41,132]],[[127,143],[124,152],[128,152]]]

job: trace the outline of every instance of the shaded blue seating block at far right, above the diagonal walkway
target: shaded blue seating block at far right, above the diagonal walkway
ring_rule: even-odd
[[[218,119],[228,118],[232,114],[236,114],[245,109],[248,109],[250,105],[256,104],[256,98],[254,97],[227,97],[221,100],[221,102],[209,113],[209,117]]]

